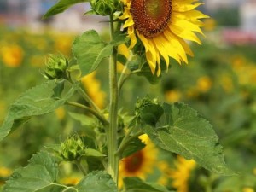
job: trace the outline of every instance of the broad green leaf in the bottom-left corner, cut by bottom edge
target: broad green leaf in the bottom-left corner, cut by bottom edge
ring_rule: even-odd
[[[34,154],[29,165],[17,169],[3,188],[3,192],[76,192],[56,182],[58,160],[47,152]]]

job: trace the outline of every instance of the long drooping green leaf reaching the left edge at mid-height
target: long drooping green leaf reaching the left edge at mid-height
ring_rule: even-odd
[[[55,90],[58,86],[60,84],[55,83],[55,81],[48,81],[27,90],[17,98],[10,106],[6,119],[4,119],[3,125],[0,127],[0,141],[10,131],[14,131],[32,116],[53,112],[73,95],[75,88],[71,87],[60,98],[60,92]]]

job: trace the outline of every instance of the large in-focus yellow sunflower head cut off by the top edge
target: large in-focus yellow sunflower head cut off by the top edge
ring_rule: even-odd
[[[145,47],[146,59],[151,72],[160,75],[160,59],[172,57],[178,63],[188,63],[187,54],[193,56],[185,40],[201,44],[195,32],[201,33],[202,18],[207,15],[195,10],[203,3],[197,0],[122,0],[125,20],[131,39],[130,49],[137,44],[137,38]]]

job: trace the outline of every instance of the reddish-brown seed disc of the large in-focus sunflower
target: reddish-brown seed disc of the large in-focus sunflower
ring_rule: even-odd
[[[154,38],[168,26],[172,0],[131,0],[134,26],[146,38]]]

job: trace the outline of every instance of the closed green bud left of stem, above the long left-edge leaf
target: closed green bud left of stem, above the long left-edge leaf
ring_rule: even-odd
[[[61,79],[66,75],[68,61],[63,55],[49,55],[45,63],[44,76],[47,79]]]

